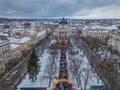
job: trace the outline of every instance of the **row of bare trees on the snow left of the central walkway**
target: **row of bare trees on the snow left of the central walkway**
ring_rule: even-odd
[[[51,83],[53,81],[54,78],[57,77],[57,71],[58,71],[58,66],[57,66],[57,62],[58,62],[58,58],[59,58],[59,50],[58,50],[59,46],[58,43],[52,43],[49,46],[49,58],[47,60],[44,72],[43,72],[43,76],[42,76],[42,81],[46,83],[48,82],[48,87],[51,86]]]

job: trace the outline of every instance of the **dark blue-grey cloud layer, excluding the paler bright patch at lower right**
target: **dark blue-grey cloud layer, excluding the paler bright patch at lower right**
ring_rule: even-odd
[[[120,0],[0,0],[0,16],[62,17],[110,5]]]

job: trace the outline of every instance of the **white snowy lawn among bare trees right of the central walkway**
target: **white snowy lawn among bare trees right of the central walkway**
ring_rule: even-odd
[[[77,49],[76,49],[76,50],[77,50]],[[88,62],[88,59],[86,58],[86,56],[84,55],[84,53],[83,53],[82,50],[79,49],[79,54],[72,55],[72,56],[67,53],[67,62],[68,62],[68,65],[69,65],[70,62],[71,62],[70,59],[73,58],[73,57],[75,57],[76,59],[78,58],[78,59],[82,60],[81,69],[91,68],[91,66],[90,66],[90,64],[89,64],[89,62]],[[71,67],[71,66],[70,66],[70,67]],[[68,66],[68,68],[69,68],[69,66]],[[82,70],[81,70],[81,71],[82,71]],[[81,74],[81,75],[84,75],[84,70],[83,70],[81,73],[83,73],[83,74]],[[88,89],[91,87],[91,85],[104,85],[95,72],[90,71],[90,74],[91,74],[91,75],[90,75],[90,78],[89,78],[89,80],[88,80],[88,85],[87,85],[87,88],[88,88]],[[72,78],[70,71],[69,71],[69,76],[70,76],[70,79],[73,80],[73,82],[74,82],[74,84],[75,84],[75,88],[78,88],[78,87],[77,87],[77,82],[76,82],[75,79]],[[79,77],[79,76],[78,76],[78,77]],[[85,77],[85,78],[86,78],[86,77]],[[84,86],[85,81],[84,81],[83,79],[81,79],[81,81],[82,81],[82,85]]]

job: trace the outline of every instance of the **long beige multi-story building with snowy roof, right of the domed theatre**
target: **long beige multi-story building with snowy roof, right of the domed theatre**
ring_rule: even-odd
[[[82,30],[84,37],[91,36],[93,38],[98,38],[102,41],[108,40],[109,32],[116,27],[103,27],[103,26],[87,26]]]

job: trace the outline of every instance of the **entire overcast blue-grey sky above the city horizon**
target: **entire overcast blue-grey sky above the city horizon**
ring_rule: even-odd
[[[120,0],[0,0],[0,17],[119,18]]]

